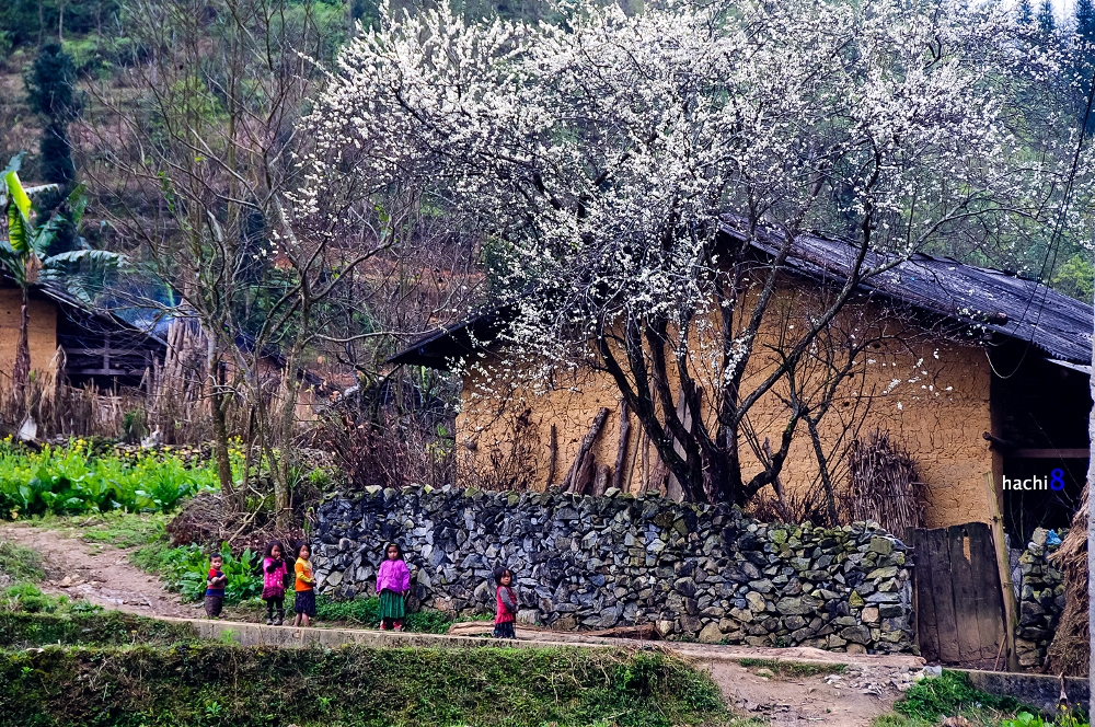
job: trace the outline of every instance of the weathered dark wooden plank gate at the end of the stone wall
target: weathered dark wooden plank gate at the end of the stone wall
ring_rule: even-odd
[[[1004,603],[992,533],[983,522],[910,530],[917,635],[929,661],[1006,669]]]

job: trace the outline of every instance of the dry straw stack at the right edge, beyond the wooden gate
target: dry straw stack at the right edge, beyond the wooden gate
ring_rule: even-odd
[[[1087,676],[1087,486],[1080,509],[1072,516],[1072,530],[1050,559],[1064,574],[1064,612],[1046,653],[1045,672],[1067,677]]]

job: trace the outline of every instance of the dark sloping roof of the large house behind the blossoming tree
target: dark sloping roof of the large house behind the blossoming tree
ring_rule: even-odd
[[[741,238],[733,220],[723,226],[723,232]],[[780,240],[782,236],[770,231],[752,244],[772,255]],[[854,254],[848,242],[800,235],[786,267],[822,282],[840,285],[848,279]],[[864,268],[885,262],[885,256],[872,253]],[[864,280],[860,289],[970,327],[1029,342],[1053,359],[1085,366],[1092,362],[1092,305],[1034,280],[918,253]],[[388,362],[448,369],[453,359],[472,353],[476,344],[489,343],[507,318],[505,309],[488,309],[419,338]]]

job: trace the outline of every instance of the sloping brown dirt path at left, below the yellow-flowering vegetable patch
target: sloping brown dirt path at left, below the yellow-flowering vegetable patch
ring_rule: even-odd
[[[191,618],[197,609],[184,605],[160,581],[129,563],[131,549],[100,547],[80,539],[74,528],[46,530],[20,523],[0,526],[0,541],[8,540],[42,554],[47,593],[83,598],[105,609],[143,616]]]

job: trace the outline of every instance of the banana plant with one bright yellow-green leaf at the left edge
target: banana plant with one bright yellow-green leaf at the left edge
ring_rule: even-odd
[[[12,371],[12,401],[22,408],[26,382],[31,376],[31,349],[27,342],[30,312],[27,301],[31,287],[36,284],[55,282],[82,302],[92,304],[93,293],[88,285],[92,270],[117,267],[125,262],[124,256],[103,250],[77,250],[49,255],[47,251],[61,231],[66,221],[73,227],[88,206],[84,186],[78,185],[66,199],[68,214],[54,215],[45,224],[36,224],[37,215],[33,197],[44,192],[56,191],[56,184],[24,187],[19,178],[23,154],[16,154],[3,171],[0,185],[0,210],[8,221],[8,235],[0,240],[0,268],[15,284],[23,297],[23,308],[19,323],[19,338],[15,343],[15,366]],[[73,273],[83,264],[81,272]]]

